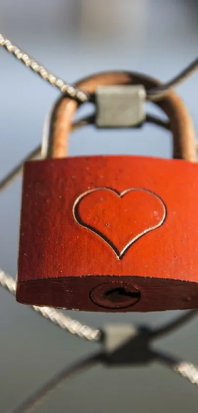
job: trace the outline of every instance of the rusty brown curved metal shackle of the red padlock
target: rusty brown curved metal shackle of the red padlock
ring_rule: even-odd
[[[94,74],[75,84],[75,87],[93,94],[98,86],[137,85],[145,89],[160,85],[156,79],[146,75],[126,71],[113,71]],[[170,131],[173,135],[173,157],[188,161],[197,160],[196,134],[192,118],[187,107],[174,92],[169,91],[165,97],[155,102],[170,120]],[[61,96],[52,111],[50,122],[48,158],[64,158],[68,150],[68,138],[73,116],[78,103],[68,97]]]

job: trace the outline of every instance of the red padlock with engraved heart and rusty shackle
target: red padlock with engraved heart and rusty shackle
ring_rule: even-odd
[[[128,72],[98,86],[158,82]],[[48,158],[24,166],[17,301],[92,312],[198,308],[198,164],[191,118],[169,92],[174,159],[66,157],[77,103],[54,109]],[[57,159],[56,159],[57,158]]]

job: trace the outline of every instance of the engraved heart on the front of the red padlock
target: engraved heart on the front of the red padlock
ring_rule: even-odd
[[[123,192],[93,188],[82,193],[73,206],[76,222],[102,238],[118,259],[143,235],[160,227],[166,215],[160,196],[144,188]]]

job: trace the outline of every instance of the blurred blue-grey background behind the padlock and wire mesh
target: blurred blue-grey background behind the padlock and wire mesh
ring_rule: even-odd
[[[198,54],[198,4],[182,0],[0,0],[0,32],[68,82],[110,69],[142,71],[166,81]],[[198,74],[178,88],[198,129]],[[0,50],[0,176],[41,140],[58,91]],[[154,126],[96,131],[70,139],[70,155],[170,157],[171,136]],[[0,266],[16,274],[21,179],[0,194]],[[71,312],[70,312],[71,313]],[[157,326],[176,312],[72,313],[102,326],[134,321]],[[156,347],[198,364],[198,318]],[[10,412],[67,363],[97,350],[59,330],[0,289],[0,413]],[[198,389],[157,364],[96,367],[56,389],[38,413],[195,413]]]

